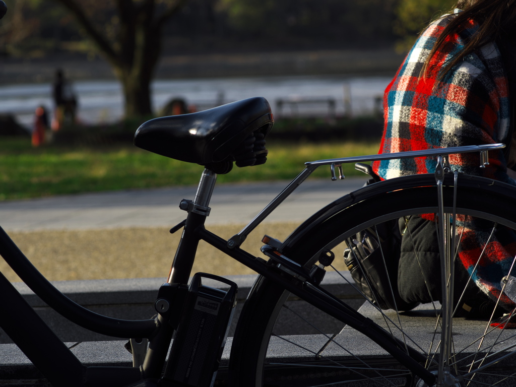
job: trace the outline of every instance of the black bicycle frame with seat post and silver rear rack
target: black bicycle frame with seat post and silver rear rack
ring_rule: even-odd
[[[316,305],[317,308],[343,321],[372,338],[394,358],[407,365],[414,374],[432,385],[435,376],[428,372],[420,361],[425,358],[418,351],[409,348],[391,337],[373,321],[354,311],[347,304],[335,298],[318,286],[310,272],[283,257],[280,265],[271,265],[260,257],[256,257],[242,249],[247,235],[255,229],[282,201],[284,201],[308,176],[319,166],[330,165],[332,179],[336,180],[335,168],[343,179],[341,166],[345,163],[370,162],[392,158],[410,158],[422,156],[442,156],[449,154],[479,152],[481,165],[486,165],[487,152],[504,148],[504,144],[469,146],[434,149],[426,151],[402,152],[398,154],[382,154],[360,157],[348,157],[329,160],[318,160],[306,163],[303,170],[263,211],[249,222],[238,234],[225,240],[204,228],[206,216],[209,214],[209,200],[216,182],[216,174],[203,172],[196,198],[193,201],[183,200],[180,208],[188,212],[186,220],[174,227],[171,232],[184,227],[181,240],[171,266],[168,282],[159,291],[158,299],[166,299],[170,308],[158,313],[155,319],[127,321],[100,316],[86,310],[69,300],[55,289],[37,269],[30,264],[23,253],[15,246],[3,229],[0,228],[0,255],[9,263],[20,278],[38,294],[43,301],[57,312],[78,325],[95,332],[117,337],[149,338],[149,349],[143,365],[137,367],[85,367],[74,354],[63,344],[55,333],[46,326],[36,312],[28,305],[9,281],[0,273],[0,327],[20,347],[31,362],[39,369],[44,369],[45,377],[56,386],[82,386],[87,383],[102,386],[123,386],[138,383],[140,386],[157,380],[163,370],[169,343],[174,329],[177,328],[178,314],[182,308],[182,292],[188,283],[193,261],[200,240],[231,256],[238,262],[253,269],[273,283],[279,284],[287,291]],[[263,251],[266,252],[267,249]],[[176,312],[174,314],[174,312]],[[16,317],[13,317],[16,316]],[[48,349],[52,349],[52,357]],[[152,384],[149,384],[152,385]]]

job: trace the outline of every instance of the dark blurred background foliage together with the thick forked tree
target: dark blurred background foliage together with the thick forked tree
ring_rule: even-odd
[[[402,53],[452,6],[451,0],[6,2],[0,56],[102,58],[123,87],[126,118],[152,115],[150,85],[163,56],[353,50],[356,59],[361,50]]]

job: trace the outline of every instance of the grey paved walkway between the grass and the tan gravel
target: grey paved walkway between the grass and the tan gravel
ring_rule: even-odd
[[[365,178],[332,182],[309,179],[266,221],[303,221],[318,209],[360,188]],[[260,182],[215,186],[207,224],[247,223],[288,184]],[[76,230],[121,227],[171,227],[185,218],[181,199],[193,199],[197,187],[126,190],[0,202],[6,231]]]

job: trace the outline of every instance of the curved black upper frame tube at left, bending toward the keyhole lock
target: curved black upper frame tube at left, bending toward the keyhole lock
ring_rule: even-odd
[[[34,293],[63,317],[88,330],[114,337],[152,337],[156,322],[121,320],[92,312],[58,291],[27,259],[0,227],[0,255]]]

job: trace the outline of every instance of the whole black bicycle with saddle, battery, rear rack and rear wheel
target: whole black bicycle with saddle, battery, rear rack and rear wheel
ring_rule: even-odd
[[[504,145],[306,163],[305,169],[239,233],[226,240],[209,232],[204,222],[217,174],[230,172],[234,160],[239,167],[265,163],[265,136],[272,124],[268,102],[251,98],[195,114],[157,118],[138,128],[136,146],[205,167],[195,199],[180,203],[187,216],[171,232],[182,229],[181,241],[168,281],[159,288],[157,315],[149,320],[108,318],[75,304],[46,281],[0,229],[0,255],[20,278],[50,307],[76,324],[98,333],[131,338],[133,367],[80,364],[1,275],[0,327],[55,386],[213,385],[219,375],[218,362],[234,310],[236,286],[204,273],[197,273],[189,282],[197,245],[203,240],[260,274],[233,338],[229,365],[229,383],[233,386],[511,385],[516,374],[511,358],[516,354],[515,335],[492,328],[490,320],[471,322],[453,317],[454,265],[450,262],[460,238],[454,241],[449,237],[458,234],[456,220],[464,216],[483,219],[491,235],[495,229],[512,232],[516,229],[516,209],[511,206],[516,188],[451,173],[446,163],[449,155],[478,152],[483,166],[488,152]],[[364,186],[322,208],[285,241],[265,236],[263,256],[240,248],[256,225],[316,168],[330,166],[332,180],[338,180],[344,179],[344,163],[412,157],[435,157],[436,174],[404,176]],[[490,200],[478,201],[484,197]],[[354,235],[374,230],[376,224],[387,220],[429,213],[439,218],[436,224],[445,284],[442,307],[433,302],[410,313],[382,311],[374,300],[364,296],[364,305],[356,311],[324,287],[327,272],[340,275],[340,259],[335,256],[342,256],[346,241]],[[500,295],[516,298],[510,275],[510,269],[499,273],[501,280],[509,276]],[[204,286],[203,278],[218,280],[227,290]],[[311,305],[308,316],[296,316],[289,307],[290,297]],[[311,334],[276,334],[275,321],[283,311],[308,324]],[[332,320],[335,332],[327,332],[327,327],[319,329],[312,322],[313,317],[320,320],[322,313]],[[283,349],[280,354],[275,349],[278,344]]]

